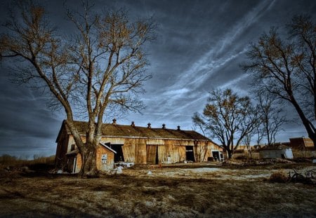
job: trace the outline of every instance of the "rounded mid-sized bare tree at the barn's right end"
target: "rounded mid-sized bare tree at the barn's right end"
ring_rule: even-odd
[[[249,97],[239,97],[232,90],[212,90],[203,114],[195,113],[193,122],[216,137],[232,158],[242,139],[256,129],[258,113]]]

